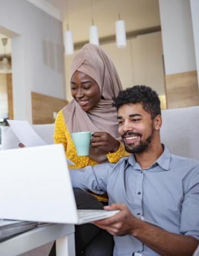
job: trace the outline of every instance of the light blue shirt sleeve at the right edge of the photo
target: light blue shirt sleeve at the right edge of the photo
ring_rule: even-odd
[[[194,168],[182,202],[180,232],[199,240],[199,165]]]

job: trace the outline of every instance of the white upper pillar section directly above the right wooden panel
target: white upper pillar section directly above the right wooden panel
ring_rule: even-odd
[[[159,8],[165,73],[174,74],[196,70],[190,2],[188,0],[159,0]]]

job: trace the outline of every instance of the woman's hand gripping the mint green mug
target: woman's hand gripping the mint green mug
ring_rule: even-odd
[[[95,132],[90,142],[91,147],[101,149],[106,154],[116,152],[120,144],[118,140],[105,132]]]

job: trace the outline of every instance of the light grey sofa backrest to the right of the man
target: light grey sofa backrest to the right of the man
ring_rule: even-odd
[[[199,161],[199,106],[162,110],[160,139],[170,153]]]

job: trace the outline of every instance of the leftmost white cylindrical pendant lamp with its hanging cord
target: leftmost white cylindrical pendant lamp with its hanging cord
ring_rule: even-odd
[[[73,33],[69,30],[69,18],[68,18],[68,3],[66,1],[66,19],[67,19],[67,31],[64,33],[64,46],[65,54],[67,56],[73,55],[74,53],[74,44],[73,44]]]

